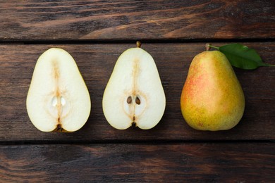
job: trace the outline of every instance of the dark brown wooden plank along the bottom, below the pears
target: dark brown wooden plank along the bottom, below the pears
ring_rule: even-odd
[[[1,182],[273,182],[274,144],[0,146]]]

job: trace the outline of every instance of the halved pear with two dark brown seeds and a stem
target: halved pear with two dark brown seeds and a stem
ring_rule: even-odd
[[[131,125],[147,130],[161,120],[166,99],[154,59],[145,50],[124,51],[104,91],[106,120],[118,130]]]

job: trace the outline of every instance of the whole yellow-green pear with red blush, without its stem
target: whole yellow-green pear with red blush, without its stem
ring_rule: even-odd
[[[181,93],[183,118],[196,130],[229,130],[243,117],[245,96],[226,56],[204,51],[193,58]]]

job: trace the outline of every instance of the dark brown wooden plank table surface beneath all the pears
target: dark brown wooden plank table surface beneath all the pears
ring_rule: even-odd
[[[232,130],[193,130],[180,108],[205,43],[245,44],[275,64],[274,38],[274,1],[0,1],[0,182],[274,182],[274,68],[234,68],[246,106]],[[152,130],[115,130],[102,95],[137,40],[157,64],[166,111]],[[27,115],[35,63],[50,47],[71,53],[90,92],[78,132],[40,132]]]

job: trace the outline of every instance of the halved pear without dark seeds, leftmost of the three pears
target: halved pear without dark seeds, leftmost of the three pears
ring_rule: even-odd
[[[73,57],[63,49],[45,51],[35,65],[27,113],[43,132],[74,132],[90,115],[91,101]]]

